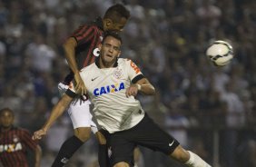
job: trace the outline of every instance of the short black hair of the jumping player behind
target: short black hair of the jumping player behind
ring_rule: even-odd
[[[128,20],[130,16],[130,11],[127,10],[124,5],[116,4],[107,9],[103,18],[109,18],[116,23],[119,22],[122,17]]]

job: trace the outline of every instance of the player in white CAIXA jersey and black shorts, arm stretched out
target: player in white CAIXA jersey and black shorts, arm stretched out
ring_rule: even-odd
[[[133,149],[139,144],[163,152],[187,166],[210,167],[195,153],[184,150],[178,141],[162,131],[143,111],[135,96],[137,93],[152,95],[155,93],[154,87],[136,64],[118,58],[121,44],[119,34],[105,34],[99,47],[99,58],[81,72],[87,93],[94,103],[93,114],[97,125],[109,133],[107,141],[112,166],[133,166]],[[64,94],[44,127],[34,133],[34,139],[41,139],[45,135],[74,96],[74,90]]]

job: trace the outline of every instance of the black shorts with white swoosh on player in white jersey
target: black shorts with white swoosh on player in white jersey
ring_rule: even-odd
[[[127,162],[133,166],[133,150],[137,145],[170,155],[179,144],[145,114],[143,120],[132,129],[109,134],[108,153],[112,166],[117,162]]]

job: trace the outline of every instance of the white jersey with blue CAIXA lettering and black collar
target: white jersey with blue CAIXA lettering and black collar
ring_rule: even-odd
[[[133,96],[125,95],[132,81],[143,78],[131,60],[119,58],[116,67],[103,69],[94,63],[84,67],[80,74],[101,128],[109,133],[119,132],[132,128],[143,119],[141,103]]]

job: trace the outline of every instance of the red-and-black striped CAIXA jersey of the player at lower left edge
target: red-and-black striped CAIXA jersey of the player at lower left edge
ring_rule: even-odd
[[[13,127],[0,133],[0,162],[5,167],[28,167],[27,149],[35,150],[37,143],[25,129]]]

